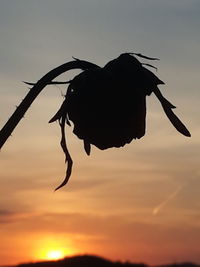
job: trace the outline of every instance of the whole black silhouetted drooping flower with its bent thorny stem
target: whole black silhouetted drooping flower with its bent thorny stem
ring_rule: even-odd
[[[66,145],[65,124],[74,124],[73,132],[84,142],[84,149],[89,155],[91,144],[99,149],[122,147],[133,139],[145,134],[146,96],[152,92],[160,101],[165,114],[174,127],[183,135],[189,131],[173,113],[175,108],[158,89],[164,84],[155,74],[144,66],[136,57],[158,60],[136,53],[124,53],[108,62],[103,68],[88,61],[74,58],[43,76],[33,85],[24,100],[0,131],[0,148],[19,123],[31,103],[49,84],[69,84],[64,102],[49,122],[59,121],[61,127],[61,147],[65,153],[67,171],[64,186],[72,172],[72,158]],[[81,69],[82,72],[67,82],[54,79],[60,74]]]

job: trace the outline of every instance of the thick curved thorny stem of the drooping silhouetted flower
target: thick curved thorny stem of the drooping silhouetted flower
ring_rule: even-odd
[[[75,60],[67,62],[63,65],[60,65],[59,67],[49,71],[46,75],[44,75],[28,92],[26,97],[22,100],[21,104],[17,107],[15,112],[12,114],[12,116],[9,118],[7,123],[3,126],[3,128],[0,131],[0,149],[4,145],[4,143],[7,141],[8,137],[12,134],[13,130],[17,126],[17,124],[20,122],[20,120],[23,118],[24,114],[30,107],[30,105],[33,103],[35,98],[39,95],[39,93],[42,91],[42,89],[51,83],[53,79],[55,79],[57,76],[61,75],[62,73],[71,70],[71,69],[82,69],[86,70],[88,68],[94,68],[98,67],[97,65],[83,61],[83,60]]]

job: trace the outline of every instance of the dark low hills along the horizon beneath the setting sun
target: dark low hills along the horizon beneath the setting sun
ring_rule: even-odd
[[[131,263],[131,262],[113,262],[101,257],[93,255],[83,255],[66,257],[57,261],[42,261],[34,263],[19,264],[13,267],[150,267],[143,263]],[[193,263],[176,263],[162,265],[159,267],[200,267],[198,264]]]

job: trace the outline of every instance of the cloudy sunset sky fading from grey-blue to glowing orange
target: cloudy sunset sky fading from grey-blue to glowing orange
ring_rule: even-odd
[[[158,57],[162,93],[192,137],[152,94],[146,135],[88,157],[68,128],[67,186],[57,123],[65,86],[44,89],[0,153],[0,265],[63,255],[200,263],[199,0],[0,0],[0,126],[35,82],[75,56],[104,66],[124,52]],[[77,72],[60,77],[68,80]]]

